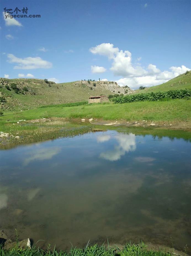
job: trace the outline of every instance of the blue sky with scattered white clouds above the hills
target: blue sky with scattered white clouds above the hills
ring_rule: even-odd
[[[4,19],[5,7],[41,17]],[[1,77],[137,88],[191,67],[191,1],[1,1],[1,10]]]

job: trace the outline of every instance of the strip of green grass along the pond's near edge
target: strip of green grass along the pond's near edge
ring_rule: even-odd
[[[169,252],[147,250],[146,246],[141,243],[140,245],[127,244],[122,250],[118,247],[99,246],[97,244],[86,246],[84,249],[71,248],[70,252],[57,251],[55,249],[41,250],[39,248],[32,248],[31,250],[0,249],[1,256],[169,256]]]

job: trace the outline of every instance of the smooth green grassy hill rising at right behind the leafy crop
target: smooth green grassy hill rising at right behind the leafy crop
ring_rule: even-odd
[[[177,89],[191,88],[191,71],[187,74],[183,73],[166,83],[145,88],[144,90],[134,90],[133,93],[147,93],[147,92],[160,92]]]

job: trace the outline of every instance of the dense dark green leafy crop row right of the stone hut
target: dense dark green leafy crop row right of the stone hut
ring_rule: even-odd
[[[149,92],[149,93],[137,93],[133,95],[126,95],[122,97],[115,97],[112,99],[115,103],[127,103],[127,102],[137,102],[137,101],[159,101],[164,98],[169,99],[181,99],[190,98],[191,89],[181,89],[181,90],[170,90],[167,92]]]

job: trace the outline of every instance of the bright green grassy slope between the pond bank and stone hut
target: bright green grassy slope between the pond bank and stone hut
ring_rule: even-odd
[[[19,112],[7,112],[0,117],[0,122],[6,120],[35,118],[97,118],[104,120],[148,120],[148,121],[189,121],[191,116],[190,100],[175,99],[158,102],[132,102],[123,104],[89,104],[77,107],[47,107]]]

